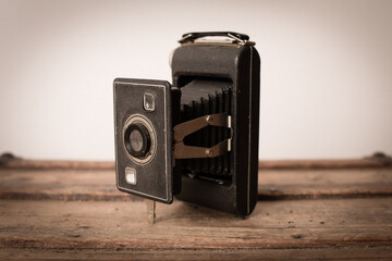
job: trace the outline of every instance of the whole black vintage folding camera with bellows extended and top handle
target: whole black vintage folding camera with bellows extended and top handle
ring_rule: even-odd
[[[246,216],[257,202],[259,54],[232,32],[179,42],[172,85],[114,79],[118,188]]]

